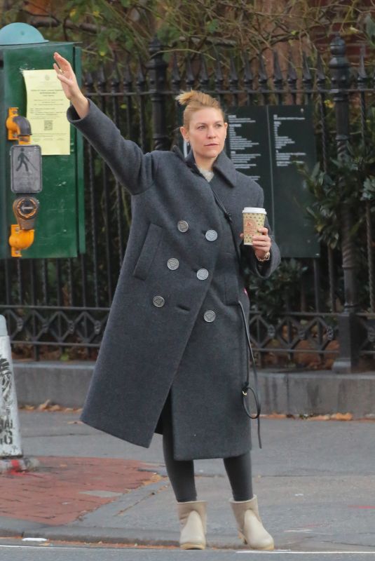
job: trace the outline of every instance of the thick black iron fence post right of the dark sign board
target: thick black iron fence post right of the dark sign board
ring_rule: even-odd
[[[346,58],[346,44],[340,36],[331,43],[332,59],[329,69],[332,76],[332,95],[336,113],[337,159],[343,161],[348,154],[349,141],[349,62]],[[338,188],[343,189],[343,177]],[[360,358],[360,322],[357,318],[358,291],[356,279],[356,250],[350,231],[353,217],[349,205],[343,203],[337,209],[341,214],[341,252],[345,304],[339,314],[339,357],[335,360],[334,372],[353,372]]]

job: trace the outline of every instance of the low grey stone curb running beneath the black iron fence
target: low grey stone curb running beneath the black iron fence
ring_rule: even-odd
[[[49,400],[61,407],[82,407],[95,363],[18,361],[13,363],[19,405]],[[264,414],[375,415],[375,371],[335,374],[331,370],[259,370]]]

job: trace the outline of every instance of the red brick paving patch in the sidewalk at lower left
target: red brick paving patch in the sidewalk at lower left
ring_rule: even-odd
[[[38,460],[40,466],[36,471],[13,471],[1,476],[1,517],[36,522],[41,527],[70,525],[123,494],[161,479],[156,473],[144,471],[146,464],[135,460]],[[4,532],[4,524],[2,527]]]

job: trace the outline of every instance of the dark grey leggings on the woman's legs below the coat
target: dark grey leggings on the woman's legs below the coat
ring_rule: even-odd
[[[173,457],[172,421],[170,397],[165,403],[163,413],[163,452],[168,477],[179,503],[196,501],[196,482],[193,460],[175,460]],[[224,466],[231,484],[233,499],[247,501],[252,499],[252,464],[250,452],[241,456],[224,458]]]

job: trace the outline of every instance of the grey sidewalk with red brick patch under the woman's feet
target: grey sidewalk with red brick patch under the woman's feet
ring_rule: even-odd
[[[83,425],[73,413],[20,412],[34,473],[0,477],[0,536],[178,546],[161,438],[149,449]],[[375,554],[374,421],[263,419],[254,491],[276,547]],[[131,458],[131,459],[130,459]],[[241,549],[220,460],[196,461],[211,548]]]

